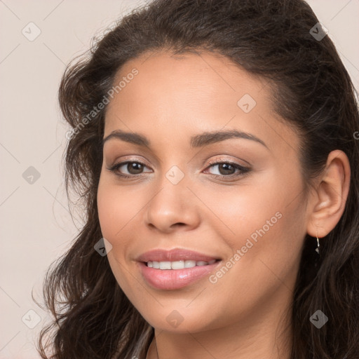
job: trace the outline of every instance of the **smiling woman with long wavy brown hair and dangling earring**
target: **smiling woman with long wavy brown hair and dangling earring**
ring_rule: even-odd
[[[59,97],[86,224],[42,358],[358,358],[358,109],[304,1],[152,1]]]

